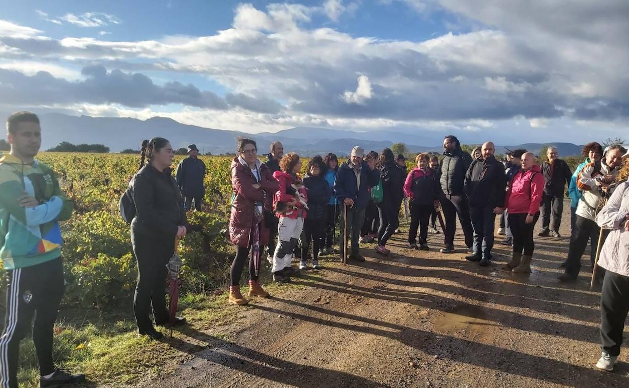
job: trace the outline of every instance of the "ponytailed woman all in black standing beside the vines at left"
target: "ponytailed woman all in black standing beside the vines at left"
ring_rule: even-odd
[[[157,326],[169,321],[166,308],[166,264],[175,253],[175,238],[186,235],[186,211],[177,182],[172,177],[172,146],[164,138],[152,138],[142,142],[140,171],[131,180],[136,215],[131,221],[131,244],[138,265],[138,284],[133,297],[133,313],[141,335],[155,340],[162,333]],[[148,163],[145,165],[145,159]],[[177,318],[175,325],[186,323]]]

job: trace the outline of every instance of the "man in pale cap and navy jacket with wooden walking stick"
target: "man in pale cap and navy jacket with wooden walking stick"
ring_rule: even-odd
[[[362,147],[352,148],[349,160],[343,163],[337,172],[334,191],[337,199],[342,203],[343,210],[340,235],[345,236],[340,241],[341,261],[347,259],[347,239],[352,241],[350,260],[364,262],[365,258],[359,253],[360,228],[365,219],[365,208],[369,203],[369,187],[376,186],[380,174],[376,170],[374,161],[364,162],[365,151]]]

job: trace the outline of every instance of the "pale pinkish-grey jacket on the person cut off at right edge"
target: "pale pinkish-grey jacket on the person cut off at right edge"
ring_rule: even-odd
[[[623,276],[629,276],[629,231],[625,230],[627,214],[629,182],[623,182],[596,216],[596,223],[601,228],[611,230],[601,250],[598,265]]]

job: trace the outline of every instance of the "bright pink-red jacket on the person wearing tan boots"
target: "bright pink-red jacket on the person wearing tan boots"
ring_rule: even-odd
[[[533,168],[527,171],[520,170],[518,174],[515,174],[506,197],[504,197],[504,203],[509,214],[538,213],[544,183],[544,176],[538,165],[533,165]]]

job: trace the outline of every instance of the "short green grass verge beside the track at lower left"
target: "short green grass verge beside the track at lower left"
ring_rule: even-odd
[[[131,384],[174,370],[179,361],[189,358],[189,353],[201,350],[204,340],[228,339],[223,333],[208,331],[229,324],[238,316],[238,308],[227,303],[226,295],[189,294],[182,297],[180,306],[189,327],[175,330],[174,339],[169,338],[169,330],[162,329],[164,341],[138,336],[131,316],[120,320],[92,317],[96,323],[61,321],[55,326],[53,357],[65,370],[86,374],[89,382],[84,386]],[[82,319],[86,320],[90,321]],[[21,343],[19,365],[20,386],[38,387],[39,372],[31,338]]]

